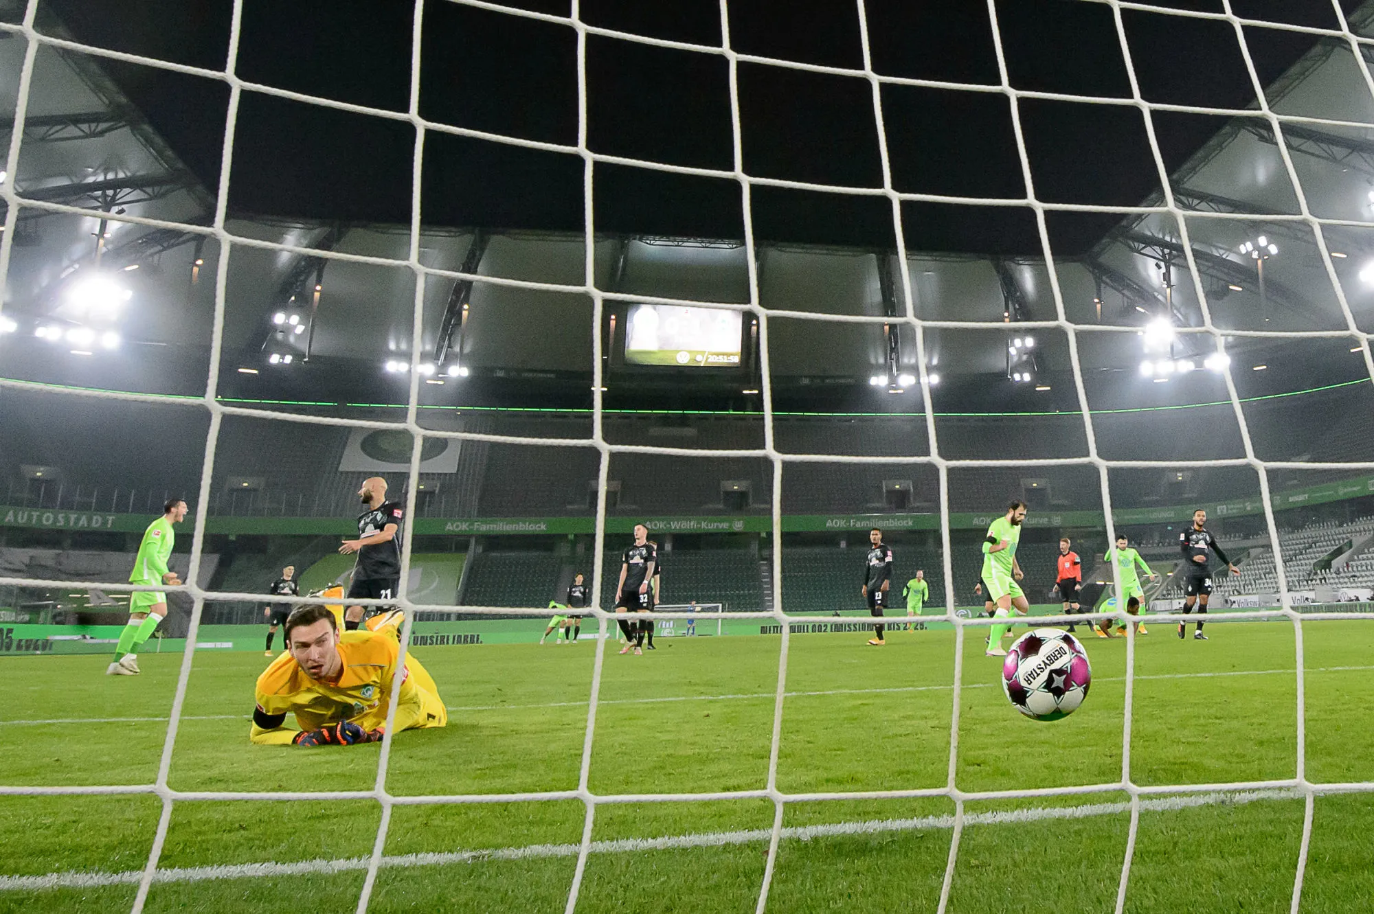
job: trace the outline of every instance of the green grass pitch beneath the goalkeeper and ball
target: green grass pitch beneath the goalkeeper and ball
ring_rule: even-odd
[[[1017,633],[1021,631],[1018,627]],[[1081,630],[1080,630],[1081,631]],[[1374,626],[1307,622],[1307,777],[1374,780]],[[1118,781],[1125,644],[1090,637],[1092,690],[1065,720],[1018,715],[999,664],[967,630],[955,780],[963,790]],[[1294,777],[1297,679],[1287,622],[1213,623],[1210,641],[1167,624],[1138,640],[1131,771],[1140,785]],[[790,641],[778,788],[789,793],[940,788],[948,781],[954,633]],[[765,786],[780,640],[662,638],[644,656],[607,645],[589,788],[686,793]],[[449,726],[400,734],[393,795],[577,786],[595,644],[418,648]],[[103,675],[103,656],[0,661],[7,711],[0,782],[150,784],[180,655]],[[371,789],[379,747],[291,749],[247,741],[257,653],[199,652],[172,755],[179,790]],[[1112,911],[1125,855],[1124,793],[970,801],[949,909]],[[0,796],[0,911],[125,910],[161,804],[147,795]],[[945,797],[798,801],[771,911],[934,911],[954,834]],[[1125,910],[1287,911],[1304,801],[1180,793],[1140,812]],[[1315,804],[1303,911],[1369,910],[1374,797]],[[371,911],[565,909],[581,840],[577,800],[394,808]],[[381,819],[372,800],[173,804],[148,911],[353,911]],[[753,911],[774,807],[767,800],[598,806],[578,911]],[[668,841],[662,839],[679,839]],[[442,855],[423,858],[411,855]],[[396,858],[396,859],[390,859]],[[254,863],[302,863],[261,873]],[[188,871],[190,867],[223,867]],[[15,880],[58,874],[56,884]],[[124,876],[121,876],[124,874]],[[82,881],[84,876],[84,881]],[[129,881],[129,880],[135,881]],[[302,899],[308,899],[308,903]],[[302,907],[304,904],[304,907]]]

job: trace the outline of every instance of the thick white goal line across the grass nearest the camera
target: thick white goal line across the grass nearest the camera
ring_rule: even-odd
[[[1183,795],[1164,799],[1142,800],[1140,808],[1151,812],[1173,812],[1204,806],[1239,806],[1257,800],[1301,799],[1297,790],[1237,790],[1201,795]],[[970,825],[1020,825],[1044,822],[1048,819],[1084,819],[1099,815],[1120,815],[1131,811],[1129,803],[1090,803],[1084,806],[1032,807],[1028,810],[1007,810],[1002,812],[973,812],[963,817]],[[893,832],[923,832],[954,828],[952,815],[927,815],[914,819],[870,819],[866,822],[838,822],[834,825],[805,825],[782,829],[782,837],[793,841],[844,837],[851,834],[882,834]],[[699,847],[728,847],[736,844],[767,843],[772,829],[745,829],[739,832],[708,832],[701,834],[679,834],[657,839],[617,839],[613,841],[592,841],[592,854],[636,854],[643,851],[680,851]],[[530,844],[526,847],[506,847],[489,851],[452,851],[447,854],[403,854],[383,856],[385,867],[445,866],[451,863],[474,863],[482,860],[525,860],[534,858],[576,858],[578,844]],[[308,876],[365,870],[368,858],[350,856],[342,859],[313,859],[294,863],[236,863],[229,866],[187,866],[157,870],[154,882],[201,882],[207,880],[264,878],[282,876]],[[142,870],[124,873],[69,871],[43,876],[0,876],[0,892],[33,892],[58,888],[99,888],[103,885],[137,885]]]

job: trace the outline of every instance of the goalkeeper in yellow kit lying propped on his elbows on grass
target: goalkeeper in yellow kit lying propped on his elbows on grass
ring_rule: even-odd
[[[396,685],[401,613],[376,616],[375,630],[345,631],[328,607],[300,607],[286,620],[286,649],[257,681],[253,742],[353,745],[385,736]],[[371,629],[371,626],[370,626]],[[448,711],[415,655],[400,671],[394,730],[441,727]],[[300,730],[283,726],[295,715]]]

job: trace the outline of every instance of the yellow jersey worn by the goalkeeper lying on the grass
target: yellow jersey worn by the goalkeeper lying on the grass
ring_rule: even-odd
[[[338,652],[344,660],[344,674],[338,682],[312,679],[290,653],[280,655],[258,677],[258,714],[254,716],[294,714],[301,730],[319,730],[339,720],[352,720],[364,730],[375,730],[386,723],[386,708],[397,679],[396,661],[400,656],[396,630],[344,631],[339,634]],[[393,733],[448,723],[448,711],[438,697],[434,679],[412,653],[405,655],[400,690]],[[257,720],[253,723],[253,742],[284,744],[293,737],[295,730],[286,726],[262,727]]]

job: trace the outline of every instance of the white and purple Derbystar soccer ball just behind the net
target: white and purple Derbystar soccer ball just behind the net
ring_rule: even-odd
[[[1068,631],[1035,629],[1007,651],[1002,690],[1017,711],[1036,720],[1058,720],[1088,697],[1092,667],[1088,652]]]

